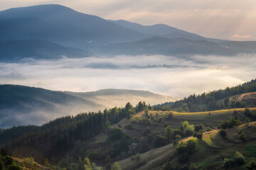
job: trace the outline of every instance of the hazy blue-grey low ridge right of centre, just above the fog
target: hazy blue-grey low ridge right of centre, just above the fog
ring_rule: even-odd
[[[102,54],[110,55],[235,55],[240,50],[229,49],[216,42],[183,38],[153,37],[135,42],[105,45]]]

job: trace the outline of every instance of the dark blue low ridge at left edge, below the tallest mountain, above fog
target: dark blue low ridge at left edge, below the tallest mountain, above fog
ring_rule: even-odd
[[[16,62],[23,58],[58,59],[61,56],[87,57],[90,52],[73,47],[64,47],[45,40],[0,41],[0,61]]]

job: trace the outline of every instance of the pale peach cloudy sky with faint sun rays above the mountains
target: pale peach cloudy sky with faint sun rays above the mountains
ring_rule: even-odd
[[[255,0],[0,0],[0,10],[38,4],[143,25],[166,23],[209,38],[256,40]]]

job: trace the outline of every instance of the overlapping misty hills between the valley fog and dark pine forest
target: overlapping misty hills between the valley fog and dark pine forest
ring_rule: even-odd
[[[0,128],[40,125],[65,115],[99,111],[114,106],[123,107],[127,100],[134,105],[139,101],[153,105],[176,100],[149,91],[105,89],[74,93],[17,85],[1,85],[0,96]]]

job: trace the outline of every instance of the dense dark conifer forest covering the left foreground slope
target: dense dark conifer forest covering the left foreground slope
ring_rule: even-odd
[[[144,102],[140,102],[135,108],[132,104],[127,103],[125,108],[114,107],[105,109],[103,112],[65,116],[41,126],[29,125],[9,128],[0,132],[0,145],[3,146],[8,142],[7,146],[10,148],[31,147],[46,155],[51,164],[56,164],[79,142],[81,144],[100,132],[105,132],[110,124],[118,123],[123,118],[130,118],[136,109],[144,109],[145,107],[148,108],[149,106],[146,106]],[[120,136],[118,133],[122,133],[122,131],[109,129],[107,133],[110,134],[112,140],[115,138],[114,135]],[[77,157],[84,157],[85,152],[86,150],[79,151],[80,155]],[[43,161],[38,160],[41,164]]]

